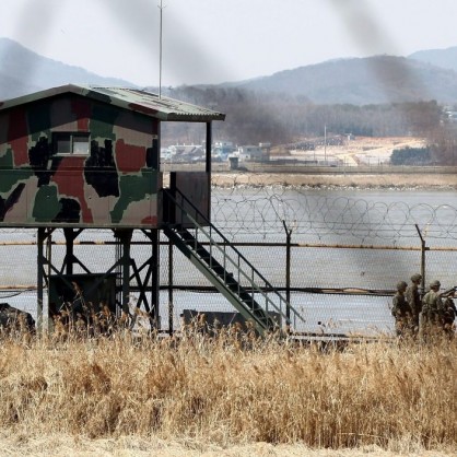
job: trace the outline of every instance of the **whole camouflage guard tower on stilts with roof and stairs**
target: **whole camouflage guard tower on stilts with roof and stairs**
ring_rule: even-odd
[[[55,305],[44,303],[46,286],[49,302],[74,296],[78,283],[86,300],[99,302],[97,306],[128,312],[134,280],[138,306],[144,306],[159,326],[163,231],[260,332],[276,328],[281,315],[290,324],[289,305],[265,292],[273,288],[236,249],[227,254],[230,242],[210,221],[212,121],[224,118],[176,99],[118,87],[70,84],[0,102],[0,228],[37,230],[38,319],[43,313],[46,317],[47,305]],[[172,172],[164,187],[160,147],[166,121],[206,124],[206,162],[204,172]],[[66,239],[61,266],[45,254],[56,228]],[[75,239],[86,228],[113,231],[117,258],[104,271],[91,271],[74,255]],[[152,247],[141,268],[131,256],[134,230],[142,231]],[[75,274],[75,266],[84,273]],[[117,303],[113,291],[121,296]]]

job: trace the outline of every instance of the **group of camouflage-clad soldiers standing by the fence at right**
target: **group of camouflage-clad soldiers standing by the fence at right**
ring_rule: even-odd
[[[400,281],[394,295],[391,314],[395,329],[400,338],[419,338],[426,341],[434,336],[455,335],[457,315],[454,296],[457,288],[440,292],[440,281],[432,281],[430,290],[422,295],[421,274],[411,277],[411,284]]]

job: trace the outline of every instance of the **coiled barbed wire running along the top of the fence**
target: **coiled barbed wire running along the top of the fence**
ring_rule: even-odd
[[[395,244],[417,238],[418,231],[429,239],[457,239],[457,206],[441,203],[441,192],[436,192],[433,202],[419,203],[401,201],[400,198],[408,199],[405,192],[362,195],[363,198],[345,190],[281,185],[213,188],[211,218],[232,238],[283,236],[285,224],[295,236],[319,241],[352,237],[361,243],[382,239]],[[379,201],[383,197],[388,197],[388,201]],[[108,232],[99,230],[97,234],[105,236]],[[24,234],[36,238],[33,230],[7,227],[0,231],[0,241],[11,241],[16,235],[22,239]]]

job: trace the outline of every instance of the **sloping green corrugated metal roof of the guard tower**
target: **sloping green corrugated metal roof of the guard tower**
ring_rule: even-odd
[[[223,113],[213,112],[190,103],[159,96],[151,92],[128,87],[98,87],[92,85],[68,84],[47,89],[16,98],[0,102],[0,110],[37,102],[56,95],[72,93],[87,98],[108,103],[120,108],[142,113],[160,120],[208,122],[224,120]]]

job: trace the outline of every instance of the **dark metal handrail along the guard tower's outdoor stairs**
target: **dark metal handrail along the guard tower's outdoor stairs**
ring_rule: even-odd
[[[164,194],[169,203],[168,212],[173,214],[167,227],[175,233],[181,231],[180,236],[194,255],[202,259],[242,302],[248,302],[251,310],[253,306],[259,305],[272,317],[269,323],[260,325],[272,330],[273,323],[281,331],[293,332],[298,321],[305,323],[303,316],[179,189],[167,189]],[[195,233],[190,234],[187,228]]]

